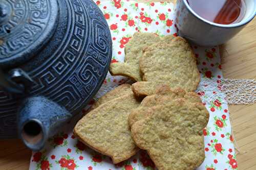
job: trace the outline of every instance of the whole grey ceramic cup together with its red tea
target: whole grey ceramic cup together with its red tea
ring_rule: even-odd
[[[223,44],[250,22],[256,0],[178,0],[179,36],[202,46]]]

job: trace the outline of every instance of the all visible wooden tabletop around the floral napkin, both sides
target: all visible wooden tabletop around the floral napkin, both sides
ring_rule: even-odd
[[[143,2],[144,0],[140,0]],[[175,0],[174,0],[175,1]],[[148,2],[148,1],[147,1]],[[153,1],[151,1],[153,2]],[[220,45],[224,78],[256,80],[256,18],[237,36]],[[256,104],[229,106],[238,169],[256,169]],[[0,169],[29,169],[31,151],[19,139],[0,140]],[[220,169],[217,169],[220,170]]]

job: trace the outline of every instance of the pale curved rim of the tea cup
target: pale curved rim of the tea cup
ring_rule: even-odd
[[[194,16],[196,16],[198,19],[208,23],[209,25],[212,25],[212,26],[216,26],[216,27],[221,27],[221,28],[234,28],[234,27],[240,27],[240,26],[243,26],[243,25],[246,25],[248,22],[250,22],[256,15],[256,8],[254,9],[254,11],[252,12],[252,14],[247,18],[245,19],[244,21],[241,21],[241,22],[238,22],[238,23],[232,23],[232,24],[229,24],[229,25],[223,25],[223,24],[219,24],[219,23],[215,23],[215,22],[211,22],[211,21],[208,21],[206,19],[204,19],[203,17],[199,16],[187,3],[187,0],[182,0],[183,3],[185,4],[186,8],[188,9],[188,11],[190,13],[192,13]],[[254,6],[256,6],[256,0],[254,0]]]

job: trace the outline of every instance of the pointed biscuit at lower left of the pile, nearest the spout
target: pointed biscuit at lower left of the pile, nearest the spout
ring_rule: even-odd
[[[119,163],[135,155],[136,147],[128,116],[140,102],[134,94],[126,94],[103,103],[85,115],[74,128],[74,134],[84,144]]]

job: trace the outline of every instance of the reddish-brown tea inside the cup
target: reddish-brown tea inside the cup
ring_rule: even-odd
[[[187,0],[187,3],[204,19],[224,25],[240,22],[246,9],[244,0]]]

